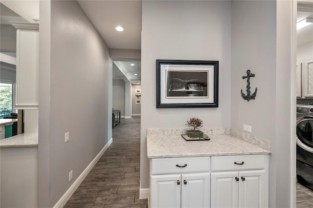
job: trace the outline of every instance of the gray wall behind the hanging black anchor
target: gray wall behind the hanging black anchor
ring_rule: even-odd
[[[267,14],[267,15],[264,15]],[[252,134],[275,145],[276,101],[276,2],[233,1],[231,19],[231,127],[243,130],[252,126]],[[251,38],[253,37],[253,38]],[[251,91],[258,87],[256,100],[247,102],[246,70],[255,74],[250,79]],[[270,75],[270,76],[269,76]],[[266,81],[266,82],[265,82]],[[269,156],[269,198],[275,197],[275,163]]]

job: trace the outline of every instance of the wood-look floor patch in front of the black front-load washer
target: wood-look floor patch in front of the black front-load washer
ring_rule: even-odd
[[[297,208],[313,208],[313,190],[297,183]]]

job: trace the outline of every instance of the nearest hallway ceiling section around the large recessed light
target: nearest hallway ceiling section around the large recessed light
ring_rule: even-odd
[[[109,48],[141,49],[141,0],[78,0]],[[115,30],[122,26],[123,32]]]

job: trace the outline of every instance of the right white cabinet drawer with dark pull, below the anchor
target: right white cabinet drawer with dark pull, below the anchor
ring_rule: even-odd
[[[265,155],[216,156],[211,158],[211,163],[212,171],[263,169]]]

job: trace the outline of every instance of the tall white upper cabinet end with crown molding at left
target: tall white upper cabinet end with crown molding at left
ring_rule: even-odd
[[[12,25],[17,31],[15,109],[38,109],[39,24]]]

